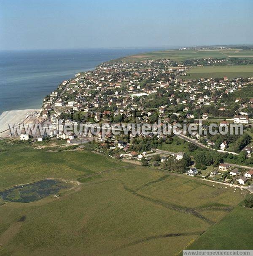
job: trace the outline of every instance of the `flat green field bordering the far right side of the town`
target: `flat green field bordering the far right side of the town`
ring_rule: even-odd
[[[253,77],[253,65],[240,66],[194,66],[189,69],[186,74],[188,76],[179,76],[184,80],[198,78],[237,78],[237,77]]]

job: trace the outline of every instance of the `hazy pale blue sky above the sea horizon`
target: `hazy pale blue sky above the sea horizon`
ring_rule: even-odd
[[[0,50],[253,44],[253,0],[0,0]]]

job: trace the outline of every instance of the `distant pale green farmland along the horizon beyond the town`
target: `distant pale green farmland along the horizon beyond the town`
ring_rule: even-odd
[[[120,60],[131,63],[146,60],[171,59],[172,61],[185,61],[196,58],[253,58],[253,50],[164,50],[158,52],[147,52],[138,55],[127,56]]]

